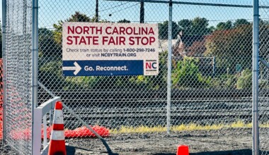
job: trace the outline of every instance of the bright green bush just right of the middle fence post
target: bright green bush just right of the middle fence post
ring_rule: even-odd
[[[185,57],[183,61],[178,61],[172,73],[174,87],[209,87],[210,80],[210,77],[203,77],[200,73],[198,59],[190,57]]]

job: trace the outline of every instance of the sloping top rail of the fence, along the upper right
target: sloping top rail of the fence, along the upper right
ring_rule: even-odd
[[[235,8],[253,8],[252,5],[243,4],[213,4],[213,3],[198,3],[190,1],[164,1],[164,0],[105,0],[105,1],[130,1],[130,2],[146,2],[146,3],[156,3],[156,4],[185,4],[185,5],[195,5],[195,6],[223,6],[223,7],[235,7]],[[259,8],[269,8],[269,6],[259,6]]]

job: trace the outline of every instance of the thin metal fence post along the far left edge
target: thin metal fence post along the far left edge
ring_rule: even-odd
[[[6,141],[6,0],[2,0],[3,143]]]

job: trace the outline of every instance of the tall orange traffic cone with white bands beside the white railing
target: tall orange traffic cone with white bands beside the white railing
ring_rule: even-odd
[[[52,133],[50,135],[50,147],[48,155],[66,155],[64,142],[64,118],[62,115],[62,102],[55,104],[55,115],[52,124]]]

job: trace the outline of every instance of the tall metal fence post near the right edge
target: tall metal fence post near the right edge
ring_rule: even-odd
[[[253,155],[259,154],[259,128],[258,128],[258,51],[259,51],[259,11],[258,0],[253,0],[253,75],[252,75],[252,99],[253,99]]]

